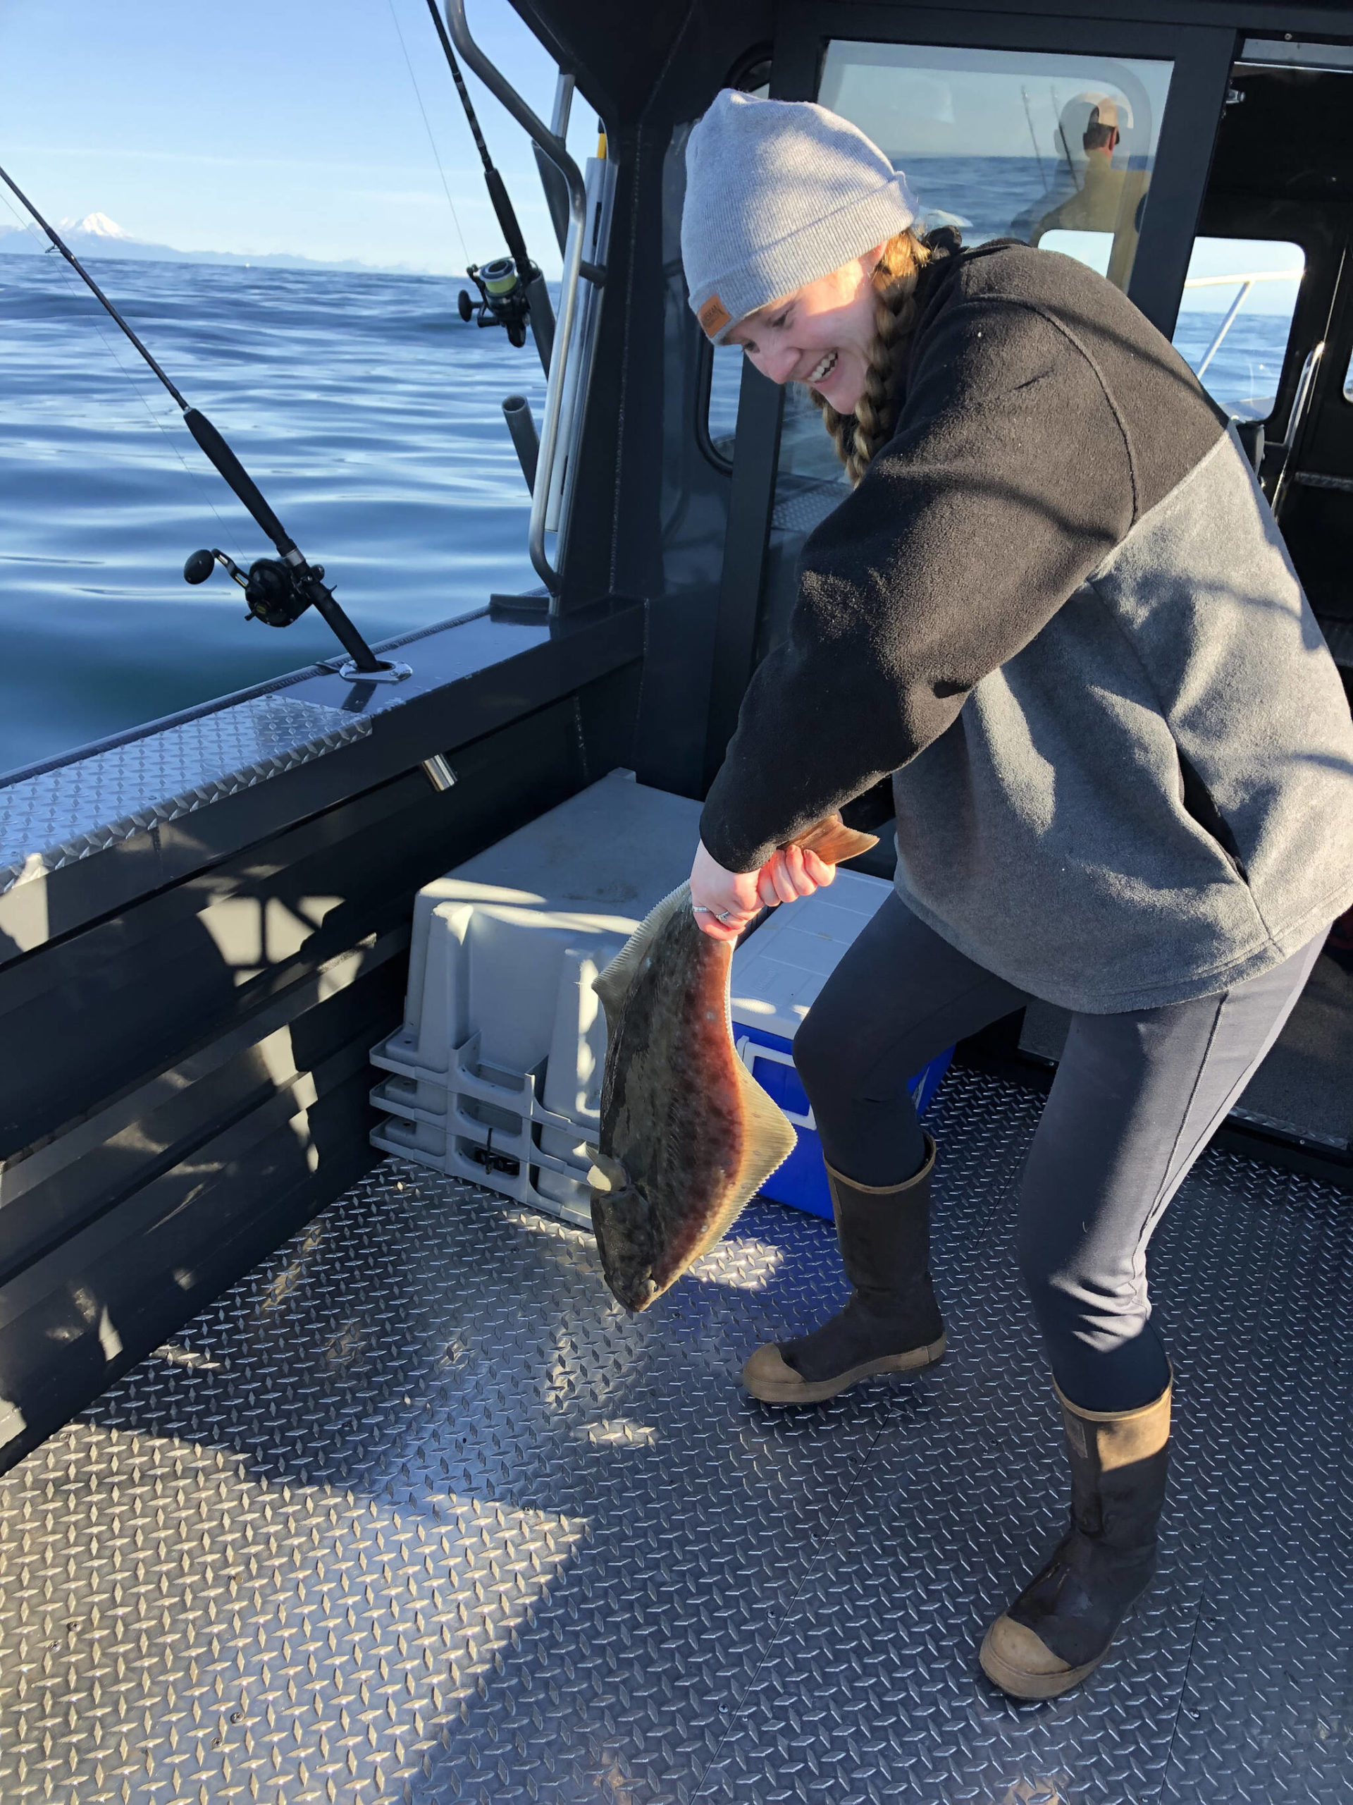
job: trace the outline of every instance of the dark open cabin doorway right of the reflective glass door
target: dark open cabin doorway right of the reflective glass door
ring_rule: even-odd
[[[1247,40],[1232,67],[1174,345],[1238,422],[1353,695],[1353,47]],[[1066,1022],[1032,1005],[1019,1049]],[[1353,1155],[1353,935],[1326,942],[1232,1112],[1297,1152]]]

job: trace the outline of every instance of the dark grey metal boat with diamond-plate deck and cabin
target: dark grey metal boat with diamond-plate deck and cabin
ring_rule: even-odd
[[[927,1115],[945,1363],[815,1412],[736,1374],[841,1294],[830,1224],[758,1199],[630,1318],[547,1139],[467,1130],[437,1170],[417,1106],[372,1092],[399,1096],[446,874],[612,926],[635,893],[584,875],[568,904],[561,872],[680,879],[846,493],[817,415],[686,303],[684,148],[720,87],[821,99],[931,222],[1126,289],[1236,417],[1348,686],[1353,7],[514,5],[561,70],[550,121],[473,9],[447,25],[559,170],[538,590],[375,675],[336,646],[0,780],[0,1796],[1342,1800],[1353,935],[1156,1238],[1162,1574],[1055,1706],[996,1693],[976,1646],[1061,1498],[1010,1253],[1059,1011],[960,1043]],[[581,801],[617,773],[666,800],[642,848]],[[561,852],[539,823],[570,803]]]

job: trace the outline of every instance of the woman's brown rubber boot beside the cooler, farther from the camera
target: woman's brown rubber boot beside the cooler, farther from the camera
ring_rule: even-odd
[[[855,1287],[844,1310],[801,1341],[758,1348],[741,1383],[763,1404],[821,1404],[877,1372],[913,1372],[943,1354],[943,1321],[931,1283],[931,1173],[906,1184],[855,1184],[832,1166],[832,1213],[841,1264]]]

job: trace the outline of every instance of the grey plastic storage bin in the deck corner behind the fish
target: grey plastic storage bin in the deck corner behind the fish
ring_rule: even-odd
[[[700,803],[612,771],[419,892],[375,1146],[590,1226],[606,1022],[592,978],[691,870]]]

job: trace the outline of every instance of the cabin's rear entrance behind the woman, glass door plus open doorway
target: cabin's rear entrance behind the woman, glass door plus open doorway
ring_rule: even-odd
[[[954,224],[967,244],[1016,236],[1079,256],[1173,334],[1236,419],[1353,693],[1353,47],[920,7],[889,13],[888,38],[862,38],[859,22],[846,7],[796,9],[770,90],[853,119],[907,171],[925,222]],[[880,14],[870,22],[879,29]],[[1102,171],[1086,168],[1077,108],[1090,96],[1106,96],[1118,125]],[[731,430],[732,370],[713,377],[718,449],[741,480],[725,542],[711,773],[747,677],[785,635],[803,543],[848,493],[805,393],[743,370]],[[873,859],[891,870],[886,828]],[[1236,1112],[1238,1128],[1297,1162],[1353,1164],[1348,940],[1331,939]],[[1030,1007],[994,1036],[998,1067],[1046,1074],[1064,1029],[1059,1011]]]

